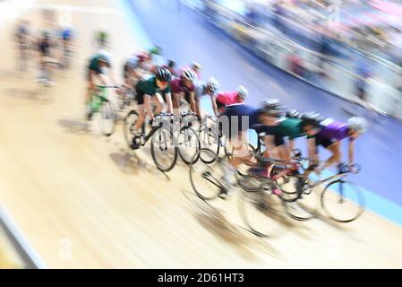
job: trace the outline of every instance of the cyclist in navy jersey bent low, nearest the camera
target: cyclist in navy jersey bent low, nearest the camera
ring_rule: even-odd
[[[248,129],[259,130],[263,126],[276,126],[282,114],[283,107],[278,100],[264,100],[260,109],[252,108],[244,103],[228,105],[219,117],[222,133],[227,136],[230,145],[233,146],[232,157],[228,160],[228,164],[223,165],[223,181],[228,187],[227,191],[232,187],[230,177],[235,174],[236,167],[242,162],[251,161],[252,156],[248,152]],[[226,197],[227,191],[223,191],[221,197]]]

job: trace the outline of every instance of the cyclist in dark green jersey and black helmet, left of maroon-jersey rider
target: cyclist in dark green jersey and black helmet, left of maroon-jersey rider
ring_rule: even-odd
[[[152,120],[155,118],[150,108],[150,100],[153,100],[157,105],[155,114],[158,114],[164,108],[164,101],[161,97],[161,94],[164,94],[167,102],[167,112],[172,112],[172,98],[170,95],[169,85],[171,80],[172,74],[170,74],[169,70],[162,66],[158,66],[158,71],[156,74],[147,80],[140,80],[135,85],[135,90],[137,91],[139,117],[134,126],[134,135],[141,135],[141,126],[145,119],[145,112],[147,112],[148,116]],[[134,147],[136,147],[135,143],[132,144],[132,148]]]

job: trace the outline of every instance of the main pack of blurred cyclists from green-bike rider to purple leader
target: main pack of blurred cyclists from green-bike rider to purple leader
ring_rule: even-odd
[[[321,173],[331,166],[342,166],[343,141],[348,141],[348,162],[355,161],[355,140],[367,130],[363,117],[351,117],[343,123],[316,112],[299,113],[287,109],[276,99],[264,100],[259,107],[252,107],[247,103],[249,92],[243,85],[235,91],[219,91],[218,80],[214,77],[201,81],[201,65],[196,62],[176,70],[173,60],[168,60],[166,65],[154,65],[151,58],[152,48],[127,57],[124,63],[124,86],[135,91],[139,114],[134,134],[141,134],[146,116],[153,119],[162,111],[179,115],[182,101],[201,117],[200,100],[209,97],[214,116],[221,126],[221,135],[226,136],[233,150],[224,167],[227,186],[231,186],[230,177],[237,166],[252,161],[248,152],[250,129],[263,138],[263,156],[282,161],[290,161],[295,139],[304,138],[311,159],[305,171],[306,177],[312,171]],[[107,83],[104,67],[111,66],[111,56],[103,49],[98,50],[89,63],[89,92],[93,89],[95,77],[101,83]],[[320,146],[330,152],[325,161],[319,161]],[[269,177],[269,169],[264,171]]]

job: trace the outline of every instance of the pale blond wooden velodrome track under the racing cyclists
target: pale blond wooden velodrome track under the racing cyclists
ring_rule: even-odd
[[[120,10],[117,2],[69,4]],[[38,9],[23,15],[43,25]],[[243,228],[239,193],[213,207],[202,204],[181,162],[167,178],[154,168],[148,147],[126,149],[122,126],[109,139],[96,125],[85,132],[84,68],[93,34],[112,31],[120,67],[139,47],[125,17],[123,11],[73,13],[78,55],[71,70],[58,73],[50,102],[38,99],[33,69],[13,72],[13,23],[0,30],[0,203],[49,267],[402,267],[402,229],[376,214],[347,225],[289,220],[278,238],[258,239]],[[0,267],[14,267],[18,259],[5,242],[0,235]]]

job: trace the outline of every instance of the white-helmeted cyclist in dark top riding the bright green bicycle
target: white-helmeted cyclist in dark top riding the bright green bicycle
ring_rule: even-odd
[[[91,95],[97,91],[96,83],[101,85],[109,85],[109,82],[115,83],[113,73],[110,72],[109,75],[112,79],[107,76],[107,69],[112,69],[112,55],[106,50],[98,50],[91,58],[88,65],[88,92],[86,95],[85,102],[90,103]],[[87,115],[88,120],[92,117],[91,112]]]

